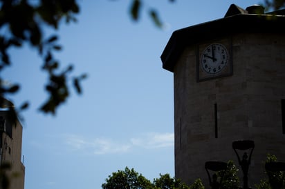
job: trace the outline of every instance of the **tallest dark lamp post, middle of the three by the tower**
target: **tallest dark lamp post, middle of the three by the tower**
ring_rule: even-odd
[[[243,189],[248,189],[250,188],[248,187],[248,168],[250,166],[252,151],[255,148],[255,142],[250,140],[233,141],[232,148],[235,150],[237,159],[239,160],[239,165],[243,172]],[[237,150],[250,150],[250,155],[248,156],[248,153],[244,152],[241,158]]]

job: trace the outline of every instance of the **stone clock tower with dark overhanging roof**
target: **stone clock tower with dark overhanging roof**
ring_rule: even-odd
[[[232,4],[222,19],[173,32],[161,60],[174,73],[176,178],[208,186],[206,161],[241,172],[239,140],[255,143],[249,186],[267,178],[267,154],[285,161],[284,15]]]

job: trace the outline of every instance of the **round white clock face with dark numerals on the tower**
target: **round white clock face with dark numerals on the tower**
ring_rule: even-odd
[[[213,43],[201,54],[200,65],[208,74],[219,74],[226,67],[229,53],[225,46],[220,43]]]

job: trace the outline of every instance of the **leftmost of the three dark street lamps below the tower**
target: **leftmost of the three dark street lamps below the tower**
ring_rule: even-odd
[[[210,181],[210,186],[212,187],[212,189],[219,189],[219,187],[221,186],[221,181],[223,180],[223,177],[221,177],[220,181],[218,181],[216,172],[220,170],[226,170],[227,165],[228,164],[223,161],[206,161],[205,162],[205,170],[207,171],[209,181]],[[213,180],[211,179],[209,170],[212,170],[215,172],[214,175],[212,175]]]

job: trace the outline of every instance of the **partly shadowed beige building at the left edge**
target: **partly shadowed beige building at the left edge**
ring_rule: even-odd
[[[23,127],[10,101],[0,97],[0,105],[0,177],[8,176],[9,189],[24,189],[25,167],[21,162]],[[6,165],[10,168],[6,168]],[[0,179],[0,188],[2,179]]]

